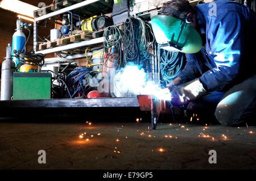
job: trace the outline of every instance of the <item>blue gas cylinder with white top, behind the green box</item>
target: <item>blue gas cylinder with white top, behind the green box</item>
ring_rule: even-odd
[[[16,21],[16,32],[13,34],[13,49],[11,54],[14,55],[13,50],[17,50],[17,52],[24,53],[25,51],[25,43],[26,43],[26,36],[22,32],[23,23],[22,20],[19,18]],[[18,66],[19,59],[16,57],[13,57],[13,61],[15,62],[15,65]]]

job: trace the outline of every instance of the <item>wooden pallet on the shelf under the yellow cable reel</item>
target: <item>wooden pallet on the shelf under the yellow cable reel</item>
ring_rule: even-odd
[[[44,50],[44,49],[59,47],[59,46],[63,46],[63,45],[71,44],[71,43],[79,43],[81,41],[90,40],[90,39],[92,39],[91,33],[81,32],[76,35],[63,37],[61,39],[57,39],[54,41],[47,41],[46,43],[41,43],[41,44],[39,44],[38,49]]]

